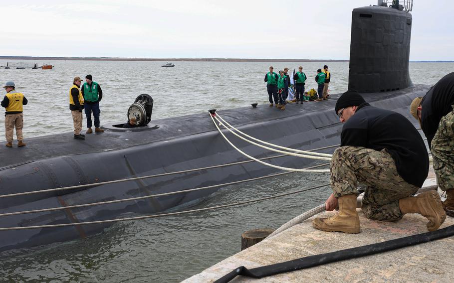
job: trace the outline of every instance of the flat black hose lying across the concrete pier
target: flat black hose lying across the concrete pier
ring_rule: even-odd
[[[258,268],[253,268],[248,270],[247,268],[241,266],[234,269],[232,272],[226,274],[222,278],[215,281],[215,283],[226,283],[234,279],[238,275],[252,277],[252,278],[262,278],[279,273],[290,272],[300,269],[306,269],[310,267],[316,267],[319,265],[329,264],[333,262],[349,260],[354,258],[360,258],[364,256],[374,255],[378,253],[388,252],[404,247],[414,246],[422,243],[427,243],[434,240],[443,239],[446,237],[454,236],[454,225],[449,227],[427,232],[417,235],[412,235],[408,237],[398,238],[394,240],[389,240],[381,243],[340,250],[337,252],[326,253],[321,255],[309,256],[304,258],[299,258],[296,260],[273,264],[269,266],[263,266]]]

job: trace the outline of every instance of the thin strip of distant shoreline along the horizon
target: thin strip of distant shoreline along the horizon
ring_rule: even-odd
[[[244,59],[244,58],[122,58],[122,57],[33,57],[0,56],[0,60],[57,60],[57,61],[173,61],[173,62],[349,62],[337,59]],[[454,61],[410,61],[417,63],[453,63]]]

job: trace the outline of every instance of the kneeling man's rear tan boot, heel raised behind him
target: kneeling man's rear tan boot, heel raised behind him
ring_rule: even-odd
[[[446,219],[446,213],[437,191],[402,198],[399,200],[399,208],[403,214],[418,213],[429,219],[427,223],[429,231],[437,230]]]

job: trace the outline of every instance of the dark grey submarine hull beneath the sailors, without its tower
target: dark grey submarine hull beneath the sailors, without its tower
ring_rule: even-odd
[[[399,112],[411,120],[408,110],[411,101],[417,96],[424,95],[428,89],[429,86],[420,85],[363,96],[372,105]],[[258,108],[219,111],[219,114],[248,135],[275,144],[307,150],[338,144],[340,141],[342,124],[333,110],[336,96],[332,96],[334,99],[326,102],[288,105],[285,111],[259,105]],[[74,140],[68,133],[29,139],[24,148],[0,149],[3,156],[0,168],[1,195],[93,184],[87,188],[0,198],[0,213],[173,192],[244,180],[279,171],[251,162],[96,185],[97,182],[175,172],[246,159],[221,137],[208,112],[155,120],[151,124],[153,125],[143,129],[132,130],[107,125],[105,133],[87,135],[85,141]],[[255,157],[276,155],[275,152],[241,141],[229,133],[227,137],[241,150]],[[333,150],[334,148],[331,148],[320,152]],[[64,153],[58,155],[56,152]],[[70,154],[72,152],[77,154]],[[12,160],[16,160],[16,164],[7,163]],[[294,156],[273,158],[267,162],[293,168],[326,163]],[[107,220],[127,213],[153,214],[191,205],[218,189],[60,211],[4,216],[0,218],[0,223],[1,227],[22,227]],[[83,238],[101,232],[107,225],[0,231],[0,251]]]

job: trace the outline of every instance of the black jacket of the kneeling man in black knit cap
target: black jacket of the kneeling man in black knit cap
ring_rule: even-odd
[[[388,149],[399,175],[418,187],[429,172],[429,156],[421,135],[407,118],[394,111],[361,104],[342,128],[341,146],[346,145]]]

